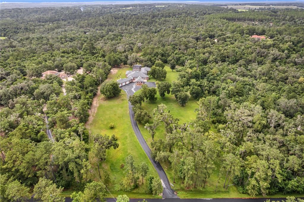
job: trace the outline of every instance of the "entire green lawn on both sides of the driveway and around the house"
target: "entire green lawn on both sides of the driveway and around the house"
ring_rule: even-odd
[[[130,70],[129,67],[123,67],[117,71],[116,74],[110,74],[108,78],[117,79],[119,75],[122,77],[125,74],[126,70]],[[168,67],[166,67],[168,71],[167,79],[168,81],[175,80],[177,77],[177,72],[172,72]],[[169,73],[170,72],[170,73]],[[166,79],[166,80],[167,80]],[[153,81],[153,79],[151,79]],[[139,93],[136,92],[136,93]],[[157,176],[157,173],[150,163],[147,155],[144,153],[141,148],[131,126],[129,111],[128,111],[128,101],[126,98],[125,92],[121,92],[121,94],[112,99],[105,99],[103,96],[99,98],[99,106],[97,112],[95,114],[95,118],[90,125],[90,132],[92,134],[107,134],[112,135],[115,134],[118,137],[119,148],[116,150],[110,149],[107,152],[107,160],[100,164],[101,173],[102,170],[106,169],[109,171],[111,176],[111,184],[109,185],[109,190],[116,197],[121,194],[126,194],[130,198],[154,198],[152,194],[148,193],[146,184],[140,185],[139,188],[133,190],[132,192],[123,192],[117,191],[115,189],[115,184],[119,184],[124,179],[123,170],[120,168],[121,163],[124,162],[124,158],[129,154],[133,155],[136,163],[146,162],[149,165],[150,171],[149,174]],[[157,107],[158,104],[166,104],[167,109],[170,110],[171,114],[174,118],[179,118],[179,122],[189,122],[195,119],[196,112],[195,109],[198,108],[198,104],[195,100],[190,99],[185,107],[181,107],[176,102],[174,95],[166,95],[165,98],[160,98],[157,94],[157,101],[151,103],[150,101],[144,102],[142,105],[143,109],[146,109],[151,113],[151,111]],[[114,123],[115,128],[109,129],[109,124]],[[152,139],[144,129],[143,125],[139,124],[140,131],[143,134],[143,137],[146,139],[148,144],[150,145]],[[157,134],[154,139],[165,138],[164,126],[160,125],[157,128]],[[91,143],[92,144],[92,143]],[[92,158],[92,153],[89,154],[90,161],[94,167],[96,173],[98,173],[97,164],[95,160]],[[168,163],[162,164],[170,182],[173,182],[173,174],[170,169]],[[225,198],[225,197],[250,197],[246,194],[240,194],[237,191],[235,186],[230,186],[228,190],[223,188],[224,176],[219,180],[218,190],[215,192],[216,181],[218,179],[219,167],[220,165],[216,165],[217,169],[207,180],[205,188],[191,188],[186,190],[181,183],[181,180],[178,177],[175,178],[174,189],[178,191],[178,196],[181,198]],[[103,179],[103,178],[102,178]],[[97,178],[96,178],[97,180]],[[141,184],[141,182],[140,182]],[[230,183],[231,184],[231,183]],[[71,194],[70,191],[65,190],[64,195]],[[301,197],[301,195],[294,195],[295,197]],[[107,197],[110,197],[109,195]],[[262,196],[257,196],[262,197]],[[286,197],[286,195],[274,195],[271,197]]]

